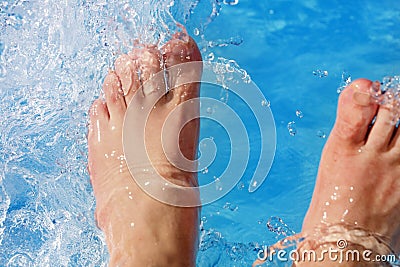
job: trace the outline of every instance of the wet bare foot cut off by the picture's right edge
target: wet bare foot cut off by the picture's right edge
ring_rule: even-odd
[[[400,131],[390,124],[390,110],[371,100],[371,84],[357,80],[339,98],[303,233],[332,224],[361,227],[398,252]]]

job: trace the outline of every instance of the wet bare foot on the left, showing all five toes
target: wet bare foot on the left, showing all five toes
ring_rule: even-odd
[[[132,178],[124,157],[122,129],[128,105],[136,93],[142,94],[143,103],[147,100],[141,85],[151,90],[165,90],[163,82],[150,78],[164,67],[201,61],[195,42],[189,37],[176,36],[161,51],[145,46],[120,56],[115,62],[115,71],[110,71],[104,80],[105,101],[96,100],[90,109],[88,167],[96,197],[96,220],[106,235],[110,266],[195,265],[199,208],[174,207],[147,195]],[[199,85],[174,88],[174,84],[169,84],[169,87],[173,90],[157,102],[148,118],[145,140],[136,142],[138,145],[146,142],[150,161],[165,179],[191,187],[197,185],[196,175],[169,163],[160,137],[167,115],[181,102],[198,97]],[[187,109],[179,111],[182,118],[185,112],[198,113],[197,105]],[[134,114],[136,119],[145,115]],[[178,114],[177,123],[179,118]],[[132,132],[143,130],[132,129]],[[196,155],[198,131],[198,120],[187,123],[175,148],[191,160]],[[167,138],[171,140],[163,141],[176,141],[176,136]]]

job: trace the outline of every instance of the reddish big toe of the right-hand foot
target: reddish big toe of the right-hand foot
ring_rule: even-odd
[[[342,144],[351,147],[365,145],[368,127],[377,110],[370,96],[372,82],[359,79],[351,83],[340,95],[337,119],[332,134]]]

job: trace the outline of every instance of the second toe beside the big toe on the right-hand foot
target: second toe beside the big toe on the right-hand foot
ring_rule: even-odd
[[[386,151],[389,148],[395,126],[391,124],[392,112],[385,106],[380,106],[376,121],[368,136],[366,147],[378,151]]]

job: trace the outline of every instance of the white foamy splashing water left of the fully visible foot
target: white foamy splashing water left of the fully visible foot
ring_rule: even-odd
[[[88,108],[118,55],[161,47],[198,3],[0,2],[0,266],[106,266],[86,170]],[[211,1],[198,33],[235,3]]]

